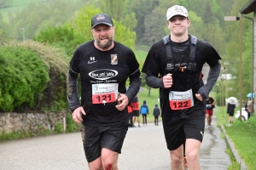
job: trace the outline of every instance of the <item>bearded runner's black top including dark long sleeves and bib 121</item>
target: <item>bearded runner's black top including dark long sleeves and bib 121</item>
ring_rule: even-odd
[[[114,42],[114,47],[108,51],[95,48],[93,43],[85,42],[76,48],[69,63],[67,99],[71,111],[80,105],[79,97],[73,97],[77,91],[73,79],[80,75],[81,105],[86,113],[82,116],[84,125],[107,126],[109,123],[128,122],[127,108],[124,111],[115,108],[116,93],[113,91],[126,94],[130,101],[137,94],[141,78],[135,54],[119,42]],[[130,79],[130,87],[126,92],[127,78]]]

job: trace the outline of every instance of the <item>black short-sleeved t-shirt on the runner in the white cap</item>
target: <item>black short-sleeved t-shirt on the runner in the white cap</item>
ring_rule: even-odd
[[[182,68],[188,68],[190,57],[189,57],[189,39],[186,42],[172,42],[172,47],[176,47],[176,50],[172,50],[174,65]],[[184,44],[188,44],[188,48],[184,49]],[[181,47],[181,52],[178,52],[177,47]],[[183,50],[184,49],[184,50]],[[208,42],[202,42],[197,40],[196,52],[195,52],[195,63],[197,70],[189,71],[184,69],[180,71],[178,69],[170,71],[167,69],[168,65],[166,62],[166,46],[163,41],[155,42],[148,52],[148,56],[143,65],[143,72],[148,77],[164,77],[166,74],[172,74],[172,88],[160,88],[160,105],[162,117],[166,119],[175,118],[187,118],[189,113],[195,110],[202,110],[205,108],[203,102],[195,98],[195,94],[200,88],[200,76],[201,70],[205,63],[214,66],[218,64],[220,59],[218,53]],[[187,110],[174,111],[169,105],[169,92],[177,91],[184,92],[192,89],[194,106]]]

